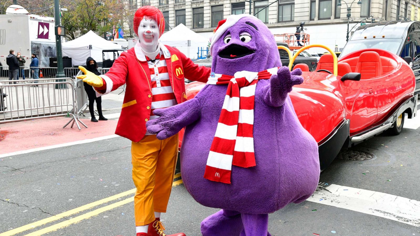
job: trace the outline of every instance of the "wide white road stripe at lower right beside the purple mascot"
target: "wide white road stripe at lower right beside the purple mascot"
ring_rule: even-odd
[[[405,197],[331,184],[318,187],[307,201],[420,226],[420,201]]]

